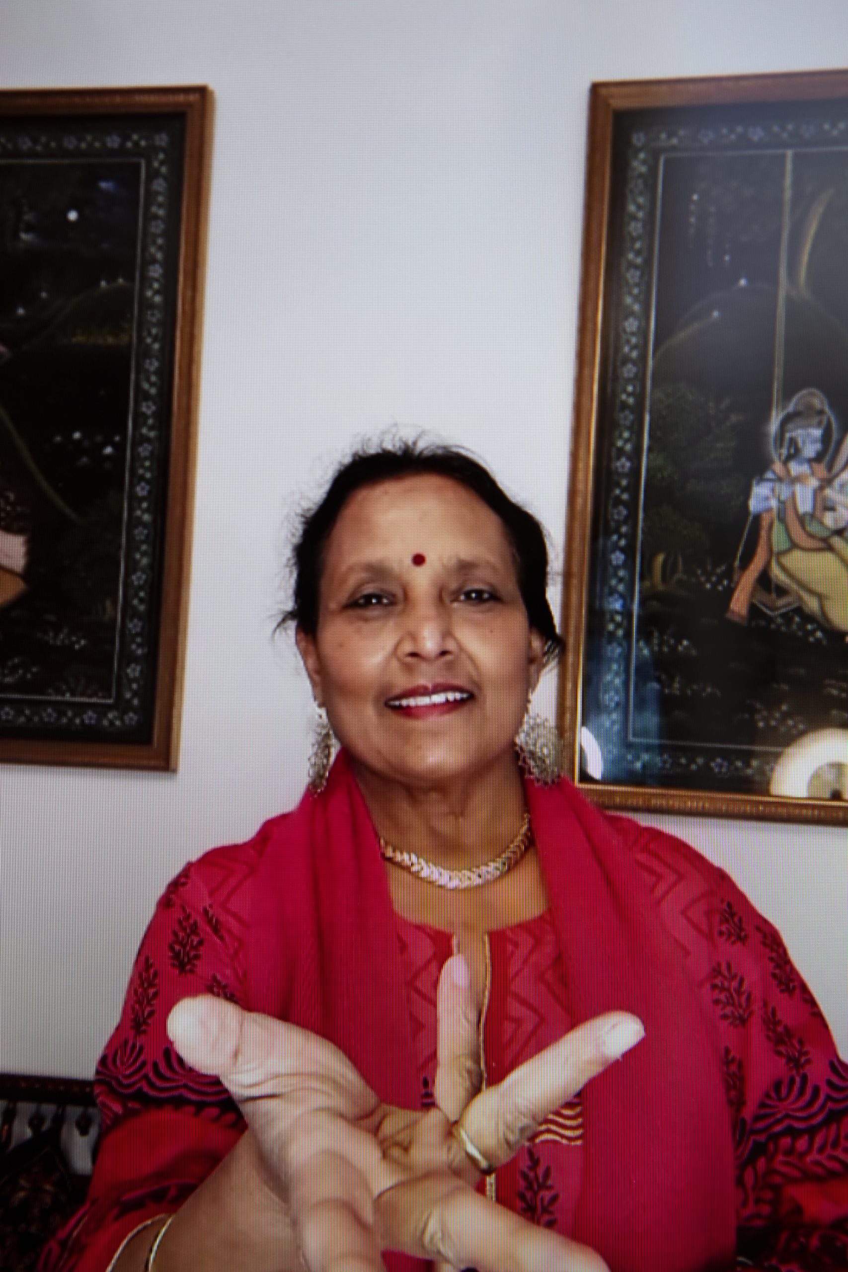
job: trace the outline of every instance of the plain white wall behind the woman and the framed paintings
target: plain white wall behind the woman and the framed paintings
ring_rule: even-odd
[[[845,48],[844,0],[0,0],[3,86],[217,95],[179,772],[0,767],[0,1070],[88,1075],[165,880],[301,787],[271,616],[329,455],[427,426],[561,538],[590,81]],[[664,824],[777,921],[848,1054],[845,832]]]

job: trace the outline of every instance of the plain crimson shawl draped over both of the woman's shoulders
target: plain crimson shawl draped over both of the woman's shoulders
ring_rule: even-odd
[[[734,1150],[715,1030],[645,876],[567,782],[526,782],[576,1023],[624,1009],[646,1038],[584,1093],[575,1238],[615,1272],[735,1267]],[[264,854],[248,960],[256,1010],[334,1042],[388,1102],[418,1107],[379,845],[346,756]],[[282,903],[281,903],[282,898]],[[392,1272],[420,1267],[388,1255]]]

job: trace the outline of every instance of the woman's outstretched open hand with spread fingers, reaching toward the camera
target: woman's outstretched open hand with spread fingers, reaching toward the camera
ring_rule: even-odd
[[[493,1165],[643,1034],[626,1013],[571,1030],[498,1086],[479,1091],[468,969],[439,982],[437,1105],[383,1104],[332,1043],[220,999],[184,999],[168,1032],[183,1058],[215,1074],[253,1133],[270,1186],[287,1206],[310,1272],[379,1272],[381,1250],[481,1272],[603,1272],[603,1261],[475,1192],[479,1172],[451,1123]]]

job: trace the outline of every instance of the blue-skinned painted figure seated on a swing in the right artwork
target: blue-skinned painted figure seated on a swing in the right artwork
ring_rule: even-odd
[[[772,466],[751,487],[727,617],[746,623],[751,604],[768,613],[801,605],[824,626],[848,632],[848,438],[837,445],[824,393],[795,394],[777,418],[772,453]],[[756,547],[742,569],[754,518]],[[769,590],[760,583],[764,574]]]

